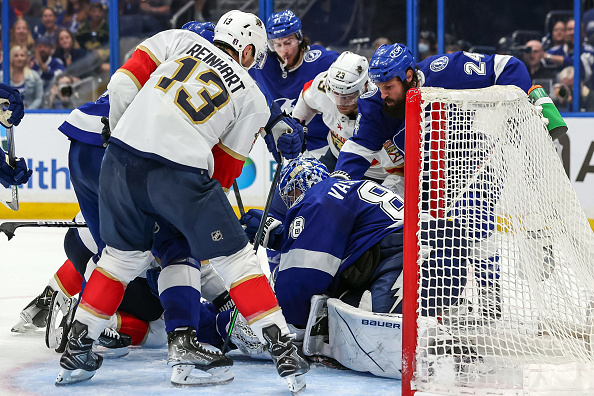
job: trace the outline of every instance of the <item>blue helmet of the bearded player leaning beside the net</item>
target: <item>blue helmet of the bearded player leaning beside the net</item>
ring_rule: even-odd
[[[402,44],[383,44],[371,57],[369,78],[374,83],[382,83],[399,77],[406,81],[406,70],[415,68],[415,58]]]

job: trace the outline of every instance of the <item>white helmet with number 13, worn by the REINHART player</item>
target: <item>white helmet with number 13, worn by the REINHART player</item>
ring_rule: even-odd
[[[250,44],[253,45],[254,63],[246,69],[252,67],[261,69],[266,62],[266,28],[260,18],[254,14],[239,10],[227,12],[215,26],[214,41],[222,41],[233,47],[239,53],[239,63],[241,63],[243,49]]]

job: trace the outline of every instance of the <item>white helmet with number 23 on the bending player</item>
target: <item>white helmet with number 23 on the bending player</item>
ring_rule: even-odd
[[[326,94],[337,105],[357,103],[365,92],[369,62],[364,56],[345,51],[334,61],[326,75]]]

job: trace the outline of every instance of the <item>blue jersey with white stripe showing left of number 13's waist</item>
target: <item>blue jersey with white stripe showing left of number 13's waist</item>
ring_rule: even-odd
[[[109,117],[109,95],[107,95],[107,91],[95,102],[87,102],[72,110],[66,117],[66,121],[58,129],[70,139],[93,146],[102,146],[101,130],[103,129],[103,123],[101,123],[101,117]]]

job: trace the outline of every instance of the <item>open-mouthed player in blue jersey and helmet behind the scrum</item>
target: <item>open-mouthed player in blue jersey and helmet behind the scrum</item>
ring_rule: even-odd
[[[281,110],[290,114],[303,89],[303,84],[318,73],[328,70],[338,53],[320,45],[309,45],[301,31],[301,20],[291,10],[272,14],[266,21],[268,47],[272,51],[262,69],[251,69],[267,98],[276,101]],[[326,152],[328,127],[317,116],[307,128],[306,146],[319,158]]]

